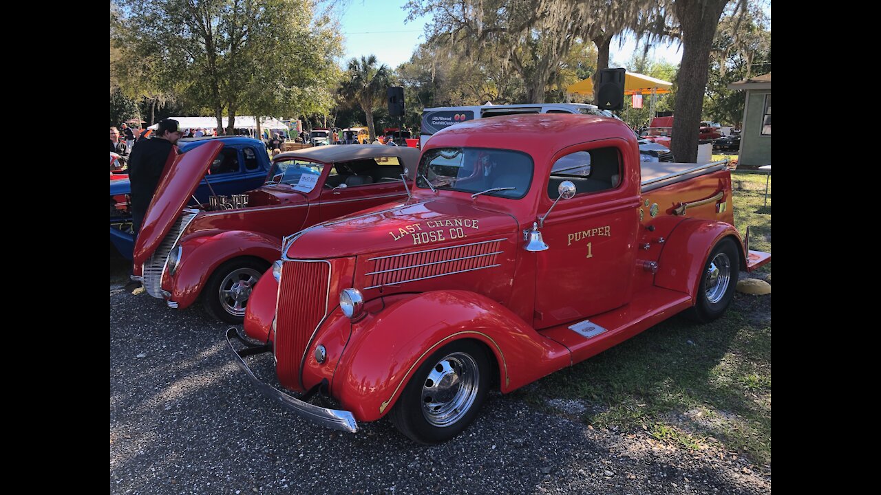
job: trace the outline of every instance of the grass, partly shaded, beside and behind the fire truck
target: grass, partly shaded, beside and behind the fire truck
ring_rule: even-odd
[[[735,222],[753,225],[752,248],[770,251],[765,176],[737,174]],[[770,210],[770,194],[768,195]],[[766,265],[770,273],[770,263]],[[663,321],[578,365],[552,373],[524,394],[530,403],[577,399],[597,427],[645,430],[686,448],[720,444],[753,462],[771,460],[771,300],[736,294],[719,320]],[[707,440],[707,439],[714,440]]]

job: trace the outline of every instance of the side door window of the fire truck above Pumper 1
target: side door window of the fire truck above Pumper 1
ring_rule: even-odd
[[[621,183],[621,155],[617,148],[575,151],[554,162],[548,197],[557,199],[562,181],[575,184],[575,195],[596,193],[617,188]]]

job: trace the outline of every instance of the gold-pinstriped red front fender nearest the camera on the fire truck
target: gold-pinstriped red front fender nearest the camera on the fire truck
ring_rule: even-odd
[[[379,419],[426,358],[460,339],[476,340],[492,352],[502,392],[572,364],[566,347],[492,299],[468,291],[424,292],[352,325],[332,395],[360,421]]]

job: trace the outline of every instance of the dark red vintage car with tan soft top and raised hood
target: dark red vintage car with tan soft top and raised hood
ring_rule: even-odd
[[[201,297],[210,314],[231,323],[241,323],[283,236],[407,197],[402,175],[412,176],[419,157],[371,144],[288,151],[273,159],[263,187],[185,207],[223,146],[203,144],[167,166],[137,236],[133,278],[168,307]]]

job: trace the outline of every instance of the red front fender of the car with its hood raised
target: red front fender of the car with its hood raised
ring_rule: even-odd
[[[181,247],[181,262],[174,276],[166,275],[162,284],[181,309],[198,299],[208,277],[222,263],[240,256],[255,256],[273,262],[281,255],[280,239],[248,231],[191,237],[183,240]]]

